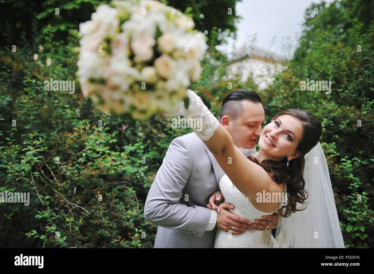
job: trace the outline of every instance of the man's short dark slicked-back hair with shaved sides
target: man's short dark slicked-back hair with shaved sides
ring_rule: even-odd
[[[231,119],[235,119],[237,115],[243,111],[243,100],[248,100],[253,103],[261,103],[261,97],[256,92],[248,89],[238,89],[228,94],[222,101],[220,108],[219,121],[221,123],[224,115],[229,116]]]

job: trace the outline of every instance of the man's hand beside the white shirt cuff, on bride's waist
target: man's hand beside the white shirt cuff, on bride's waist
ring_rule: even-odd
[[[216,226],[218,227],[218,229],[226,232],[231,232],[234,235],[243,234],[246,230],[250,229],[251,221],[242,218],[239,215],[233,214],[227,210],[233,209],[234,207],[234,205],[229,203],[220,204],[220,211],[217,212]]]

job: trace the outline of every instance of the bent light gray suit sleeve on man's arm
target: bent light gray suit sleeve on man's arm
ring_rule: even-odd
[[[190,147],[187,141],[178,137],[169,145],[148,192],[144,218],[158,226],[183,230],[201,237],[208,227],[211,210],[196,205],[189,207],[179,202],[191,170]]]

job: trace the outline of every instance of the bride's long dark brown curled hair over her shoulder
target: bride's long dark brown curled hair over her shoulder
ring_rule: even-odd
[[[277,162],[273,160],[263,160],[261,163],[253,157],[248,159],[261,166],[276,183],[286,183],[288,192],[288,202],[281,207],[281,216],[289,217],[292,212],[301,211],[305,208],[296,208],[297,203],[304,204],[308,198],[307,192],[304,190],[305,180],[303,171],[305,166],[305,154],[307,154],[315,145],[318,144],[322,133],[322,126],[319,120],[309,111],[289,108],[279,112],[273,117],[273,120],[282,115],[291,115],[300,120],[303,127],[303,134],[296,151],[300,151],[301,155],[289,161],[287,159]]]

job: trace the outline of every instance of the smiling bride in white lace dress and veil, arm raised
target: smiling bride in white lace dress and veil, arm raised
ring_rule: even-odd
[[[202,130],[194,131],[226,172],[219,185],[226,202],[236,205],[233,212],[254,222],[281,210],[275,239],[269,230],[240,235],[218,230],[215,248],[344,248],[318,142],[322,127],[313,114],[300,109],[278,113],[261,132],[260,151],[246,158],[200,97],[189,89],[187,95],[188,110],[181,103],[177,114],[202,122]]]

